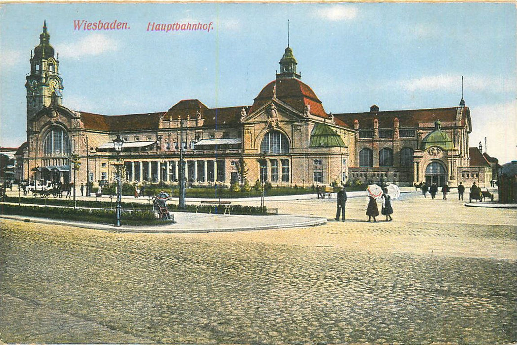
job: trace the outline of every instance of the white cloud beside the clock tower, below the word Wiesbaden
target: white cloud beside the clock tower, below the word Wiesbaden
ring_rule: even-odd
[[[77,42],[59,44],[56,51],[66,56],[80,58],[86,55],[99,55],[116,51],[119,48],[118,46],[119,44],[114,39],[101,33],[93,33]]]

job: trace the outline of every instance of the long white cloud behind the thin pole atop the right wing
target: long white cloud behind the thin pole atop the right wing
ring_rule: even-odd
[[[452,74],[438,74],[437,76],[424,76],[396,82],[406,91],[458,91],[461,88],[461,76]],[[514,92],[515,82],[503,76],[465,76],[466,88],[476,91]]]

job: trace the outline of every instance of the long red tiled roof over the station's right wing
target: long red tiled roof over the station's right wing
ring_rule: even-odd
[[[354,128],[354,121],[357,119],[360,129],[373,128],[374,119],[377,119],[379,128],[393,128],[395,118],[399,119],[400,127],[418,127],[419,123],[434,123],[438,119],[441,122],[456,121],[457,112],[458,108],[438,108],[334,114],[334,117],[341,119],[341,121],[352,128]],[[462,111],[462,125],[465,125],[467,112],[468,108],[464,108]]]

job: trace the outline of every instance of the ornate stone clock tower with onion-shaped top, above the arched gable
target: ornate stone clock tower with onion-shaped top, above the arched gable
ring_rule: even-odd
[[[31,73],[27,82],[27,125],[41,109],[51,105],[60,106],[62,102],[63,79],[59,76],[59,54],[54,57],[54,48],[49,43],[47,21],[43,23],[43,32],[39,35],[39,46],[31,52]]]

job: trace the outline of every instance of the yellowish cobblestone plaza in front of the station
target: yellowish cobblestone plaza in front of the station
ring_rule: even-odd
[[[0,339],[514,342],[517,212],[454,197],[403,194],[394,220],[378,223],[366,222],[364,198],[348,200],[345,222],[333,221],[335,199],[266,201],[329,222],[243,232],[117,233],[3,219]]]

